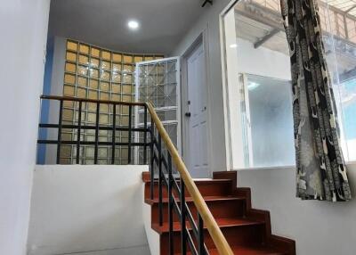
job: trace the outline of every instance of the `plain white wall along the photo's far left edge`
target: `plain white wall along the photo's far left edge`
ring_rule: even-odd
[[[26,253],[49,0],[0,5],[0,254]]]

